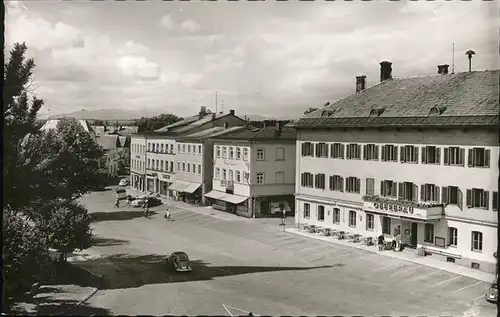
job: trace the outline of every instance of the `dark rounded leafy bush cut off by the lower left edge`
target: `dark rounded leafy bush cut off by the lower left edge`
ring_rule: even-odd
[[[43,279],[49,251],[45,235],[22,212],[3,209],[3,287],[5,300]]]

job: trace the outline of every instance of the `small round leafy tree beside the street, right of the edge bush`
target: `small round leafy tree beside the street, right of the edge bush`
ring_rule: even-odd
[[[87,209],[74,200],[53,201],[39,213],[36,221],[45,233],[48,245],[61,252],[60,260],[66,260],[70,252],[91,246],[91,218]]]

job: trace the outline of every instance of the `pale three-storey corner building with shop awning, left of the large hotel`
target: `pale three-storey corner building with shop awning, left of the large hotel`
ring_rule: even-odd
[[[295,129],[246,127],[213,136],[212,191],[216,209],[245,217],[294,211]]]

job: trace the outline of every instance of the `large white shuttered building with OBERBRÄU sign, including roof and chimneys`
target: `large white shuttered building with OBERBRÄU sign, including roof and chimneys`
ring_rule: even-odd
[[[297,129],[296,223],[391,238],[495,272],[500,71],[392,78]]]

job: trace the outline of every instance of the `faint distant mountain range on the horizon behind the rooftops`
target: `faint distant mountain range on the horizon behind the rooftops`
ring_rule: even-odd
[[[43,119],[57,119],[61,117],[73,117],[78,120],[134,120],[140,119],[141,117],[153,117],[157,116],[161,113],[168,113],[166,111],[158,111],[158,110],[120,110],[120,109],[98,109],[98,110],[78,110],[69,113],[61,113],[56,115],[44,116]],[[241,115],[236,113],[236,115],[243,118],[245,115]],[[257,114],[248,114],[246,117],[250,121],[262,121],[262,120],[270,120],[270,119],[280,119],[280,120],[291,120],[292,117],[264,117]]]

